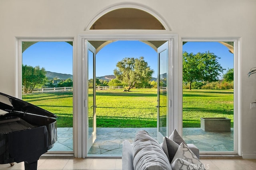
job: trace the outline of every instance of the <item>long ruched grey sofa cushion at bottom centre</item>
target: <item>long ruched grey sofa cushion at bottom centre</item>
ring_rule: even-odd
[[[146,131],[139,131],[133,143],[134,170],[171,170],[168,157],[160,144]]]

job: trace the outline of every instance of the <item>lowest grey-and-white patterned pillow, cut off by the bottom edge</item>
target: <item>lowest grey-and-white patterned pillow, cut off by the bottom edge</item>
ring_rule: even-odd
[[[204,170],[204,165],[193,164],[182,158],[176,158],[171,167],[172,170]]]

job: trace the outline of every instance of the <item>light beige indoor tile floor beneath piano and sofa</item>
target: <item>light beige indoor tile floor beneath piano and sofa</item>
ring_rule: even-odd
[[[206,170],[255,170],[256,159],[201,158]],[[24,163],[0,164],[1,170],[24,170]],[[40,158],[38,170],[121,170],[121,158]]]

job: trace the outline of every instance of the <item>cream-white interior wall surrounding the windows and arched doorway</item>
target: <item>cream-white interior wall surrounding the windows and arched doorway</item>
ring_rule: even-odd
[[[178,57],[182,38],[239,38],[238,154],[256,158],[256,75],[246,76],[256,66],[256,0],[0,0],[0,92],[18,96],[18,38],[74,39],[76,68],[78,35],[93,33],[88,23],[120,4],[160,16],[178,34]]]

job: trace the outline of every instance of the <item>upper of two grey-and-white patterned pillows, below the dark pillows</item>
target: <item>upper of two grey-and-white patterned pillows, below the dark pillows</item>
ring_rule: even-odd
[[[172,159],[171,164],[177,159],[182,158],[188,162],[191,162],[192,164],[196,164],[199,167],[202,167],[203,164],[200,162],[200,160],[196,157],[196,155],[188,148],[188,146],[185,143],[181,143],[176,154],[174,155],[174,158]]]

